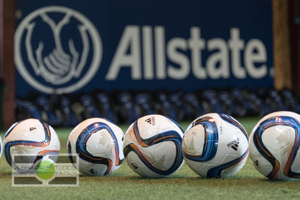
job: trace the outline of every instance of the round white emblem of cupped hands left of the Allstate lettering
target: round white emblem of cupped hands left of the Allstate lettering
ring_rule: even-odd
[[[22,78],[44,93],[70,93],[87,84],[102,59],[97,29],[63,6],[34,10],[14,35],[14,62]]]

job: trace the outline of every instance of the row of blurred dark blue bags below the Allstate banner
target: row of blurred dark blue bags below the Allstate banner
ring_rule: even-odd
[[[113,94],[105,92],[98,95],[81,95],[81,102],[78,102],[77,96],[55,95],[55,106],[49,106],[44,97],[36,94],[37,101],[29,101],[26,98],[16,100],[16,117],[18,120],[42,119],[52,126],[74,127],[85,119],[99,115],[113,122],[129,124],[139,117],[153,113],[172,116],[172,119],[179,121],[190,121],[204,113],[229,113],[233,117],[243,117],[265,116],[281,110],[299,112],[299,101],[288,89],[231,91],[233,95],[228,90],[213,89],[195,93],[180,90],[166,94],[159,91],[158,101],[145,92],[122,92],[117,96],[118,101],[108,101],[108,97]],[[99,98],[102,103],[95,103],[99,102]],[[53,96],[51,99],[53,100]]]

